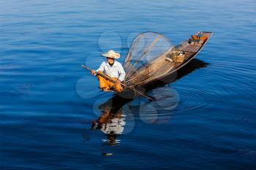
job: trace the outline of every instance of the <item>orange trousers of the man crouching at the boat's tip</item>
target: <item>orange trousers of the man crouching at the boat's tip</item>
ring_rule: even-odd
[[[102,72],[100,72],[102,73]],[[117,92],[121,92],[123,90],[123,87],[120,85],[120,83],[114,83],[110,80],[106,80],[102,76],[97,76],[99,80],[99,88],[102,88],[103,90],[116,90]],[[111,77],[113,80],[117,80],[116,77]]]

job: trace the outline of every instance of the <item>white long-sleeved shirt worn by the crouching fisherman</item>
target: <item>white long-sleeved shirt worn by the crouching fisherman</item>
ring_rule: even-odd
[[[99,69],[96,70],[96,72],[99,71],[105,72],[109,77],[116,77],[120,81],[123,81],[125,77],[124,68],[118,61],[115,61],[112,66],[110,66],[108,61],[103,61]]]

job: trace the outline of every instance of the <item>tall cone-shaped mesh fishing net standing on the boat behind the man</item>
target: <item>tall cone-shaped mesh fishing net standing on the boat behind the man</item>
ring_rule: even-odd
[[[138,77],[140,71],[145,70],[148,63],[154,62],[155,58],[163,55],[172,47],[170,40],[162,34],[145,32],[136,36],[124,61],[126,80],[129,82],[133,77]],[[143,74],[147,73],[143,72]],[[140,81],[147,79],[146,76],[143,77],[143,74],[140,75]]]

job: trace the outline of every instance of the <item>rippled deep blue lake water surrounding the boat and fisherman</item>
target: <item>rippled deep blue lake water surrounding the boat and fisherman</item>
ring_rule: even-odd
[[[255,16],[255,0],[0,1],[0,169],[256,169]],[[157,101],[99,91],[81,64],[123,61],[143,31],[214,34]],[[116,107],[119,134],[91,128]]]

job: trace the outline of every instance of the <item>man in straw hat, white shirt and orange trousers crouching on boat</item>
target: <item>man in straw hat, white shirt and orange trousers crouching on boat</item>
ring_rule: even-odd
[[[105,72],[105,74],[112,80],[115,80],[116,83],[111,82],[105,77],[97,75],[99,80],[99,88],[105,91],[116,90],[117,92],[121,92],[123,90],[121,82],[124,81],[125,72],[121,63],[115,61],[115,59],[120,58],[120,54],[116,53],[114,50],[109,50],[108,53],[103,53],[102,55],[107,58],[107,61],[103,61],[99,66],[99,69],[96,71],[92,70],[91,74],[97,75],[97,72]]]

